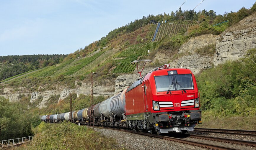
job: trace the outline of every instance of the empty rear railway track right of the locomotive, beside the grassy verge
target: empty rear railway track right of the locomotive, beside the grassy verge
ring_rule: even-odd
[[[212,132],[212,133],[224,133],[224,134],[235,134],[243,136],[255,136],[256,131],[250,130],[230,130],[230,129],[213,129],[213,128],[194,128],[194,131],[199,132]]]

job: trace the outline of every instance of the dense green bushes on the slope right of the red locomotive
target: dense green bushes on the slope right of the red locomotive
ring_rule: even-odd
[[[256,115],[255,53],[256,49],[248,50],[246,58],[225,62],[196,75],[201,109],[207,115]]]

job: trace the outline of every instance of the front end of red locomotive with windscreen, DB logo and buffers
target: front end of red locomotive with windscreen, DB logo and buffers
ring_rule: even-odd
[[[189,69],[154,71],[149,80],[152,86],[151,112],[157,132],[193,131],[196,124],[201,124],[198,88]]]

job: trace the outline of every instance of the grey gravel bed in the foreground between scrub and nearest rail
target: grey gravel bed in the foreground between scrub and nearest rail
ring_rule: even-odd
[[[94,128],[96,131],[101,132],[106,137],[112,137],[119,144],[120,149],[152,149],[152,150],[187,150],[187,149],[204,149],[197,146],[191,146],[188,144],[182,144],[178,142],[153,138],[149,136],[138,135],[134,133],[128,133],[123,131],[117,131],[106,128]]]

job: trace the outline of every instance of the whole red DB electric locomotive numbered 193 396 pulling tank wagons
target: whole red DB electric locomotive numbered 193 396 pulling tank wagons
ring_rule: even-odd
[[[130,129],[183,133],[202,122],[195,76],[189,69],[169,69],[169,64],[128,87],[125,106]]]

